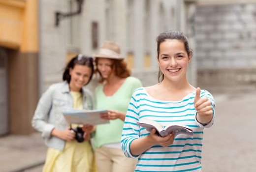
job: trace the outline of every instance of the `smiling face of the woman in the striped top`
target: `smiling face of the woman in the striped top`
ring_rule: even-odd
[[[166,39],[160,43],[158,62],[164,80],[180,81],[186,79],[190,60],[191,56],[186,52],[184,42],[177,39]]]

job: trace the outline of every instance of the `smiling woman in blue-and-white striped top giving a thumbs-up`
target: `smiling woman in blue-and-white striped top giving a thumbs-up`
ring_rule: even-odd
[[[187,37],[166,31],[157,38],[159,84],[136,89],[130,99],[122,134],[122,149],[139,158],[138,172],[201,172],[203,129],[214,122],[215,102],[206,90],[192,86],[187,69],[192,59]],[[183,124],[193,135],[170,133],[160,137],[137,125],[142,118],[166,124]]]

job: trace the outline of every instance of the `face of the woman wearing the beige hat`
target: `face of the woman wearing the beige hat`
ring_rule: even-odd
[[[113,74],[112,63],[113,61],[109,58],[98,58],[97,69],[102,78],[108,79]]]

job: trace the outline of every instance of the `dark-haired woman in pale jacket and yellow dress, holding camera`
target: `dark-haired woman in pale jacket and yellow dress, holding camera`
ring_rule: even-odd
[[[66,65],[62,83],[50,86],[40,98],[32,126],[42,132],[48,146],[43,172],[94,172],[94,154],[89,143],[93,126],[84,126],[82,140],[75,130],[82,128],[69,124],[64,119],[63,108],[93,109],[92,93],[84,86],[92,79],[93,58],[78,55]],[[73,128],[74,127],[74,128]],[[79,142],[81,143],[79,143]]]

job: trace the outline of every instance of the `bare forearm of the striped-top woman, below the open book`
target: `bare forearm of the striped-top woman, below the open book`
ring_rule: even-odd
[[[154,145],[154,142],[149,139],[149,136],[135,139],[130,144],[130,153],[133,156],[137,156],[148,150],[150,147]]]

